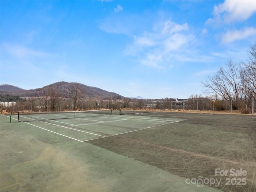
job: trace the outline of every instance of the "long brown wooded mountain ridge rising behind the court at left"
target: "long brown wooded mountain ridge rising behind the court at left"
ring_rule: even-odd
[[[46,96],[49,90],[58,92],[63,98],[71,98],[73,92],[78,91],[83,98],[95,98],[100,97],[101,99],[122,99],[123,96],[114,92],[108,92],[96,87],[86,86],[80,83],[74,82],[56,82],[42,88],[36,88],[31,90],[24,90],[22,88],[13,85],[0,85],[1,96],[20,96],[20,97],[40,97]]]

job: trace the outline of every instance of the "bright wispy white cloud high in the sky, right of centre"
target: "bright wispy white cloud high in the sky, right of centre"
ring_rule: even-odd
[[[158,22],[153,25],[152,30],[134,37],[134,44],[129,48],[132,51],[128,54],[138,56],[138,61],[146,66],[172,67],[172,58],[179,58],[177,54],[184,51],[194,40],[194,36],[188,34],[188,30],[187,23],[177,24],[171,20]]]

